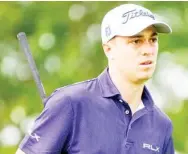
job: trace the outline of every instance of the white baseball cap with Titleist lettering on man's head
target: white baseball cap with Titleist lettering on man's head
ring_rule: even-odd
[[[171,27],[156,20],[153,13],[139,5],[123,4],[104,16],[101,24],[102,43],[107,43],[114,36],[133,36],[153,25],[158,33],[171,33]]]

